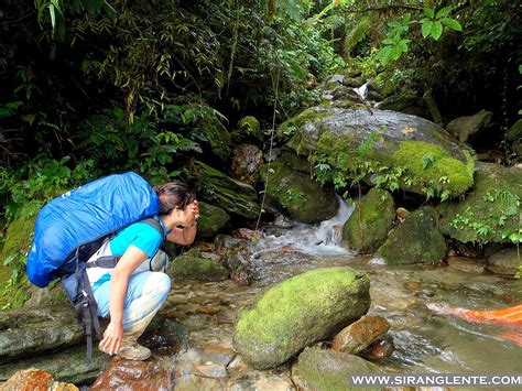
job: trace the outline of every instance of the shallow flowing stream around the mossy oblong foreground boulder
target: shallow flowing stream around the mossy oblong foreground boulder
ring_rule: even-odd
[[[336,217],[320,225],[267,227],[252,247],[258,280],[174,284],[163,313],[185,324],[198,346],[231,349],[238,309],[268,286],[316,268],[349,265],[369,272],[372,304],[391,324],[395,351],[379,362],[388,371],[505,373],[522,370],[522,327],[469,323],[428,306],[498,309],[522,302],[522,281],[469,274],[449,267],[390,267],[339,246],[342,224],[354,208],[340,202]],[[233,370],[228,369],[233,379]],[[241,374],[244,377],[244,374]],[[240,381],[240,374],[236,374]],[[238,380],[239,379],[239,380]],[[233,381],[233,380],[232,380]]]

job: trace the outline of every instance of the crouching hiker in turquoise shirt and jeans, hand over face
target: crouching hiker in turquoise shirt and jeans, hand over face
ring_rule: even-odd
[[[151,356],[150,349],[137,340],[171,290],[170,278],[156,271],[162,265],[153,265],[151,259],[160,253],[163,238],[182,246],[191,245],[199,217],[196,195],[186,184],[166,183],[154,191],[160,200],[159,221],[164,235],[151,225],[138,221],[106,240],[88,260],[89,263],[100,257],[121,257],[113,269],[93,267],[87,269],[87,275],[98,316],[110,317],[99,349],[130,360],[145,360]]]

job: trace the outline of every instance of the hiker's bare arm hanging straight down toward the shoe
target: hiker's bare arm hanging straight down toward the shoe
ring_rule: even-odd
[[[99,344],[100,350],[106,354],[116,355],[120,349],[123,337],[123,305],[129,278],[146,258],[146,253],[131,245],[112,272],[109,291],[110,323]]]

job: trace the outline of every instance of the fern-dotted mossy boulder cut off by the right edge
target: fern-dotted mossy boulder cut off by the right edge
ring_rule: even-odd
[[[475,186],[460,202],[439,207],[441,230],[461,242],[509,242],[520,227],[522,169],[477,162]]]

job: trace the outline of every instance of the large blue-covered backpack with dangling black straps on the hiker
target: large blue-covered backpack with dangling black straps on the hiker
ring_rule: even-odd
[[[102,177],[75,188],[46,204],[36,217],[29,253],[29,281],[45,287],[62,279],[78,322],[87,336],[87,357],[93,349],[93,328],[101,329],[86,268],[113,268],[118,257],[87,264],[104,240],[117,230],[142,220],[160,231],[157,195],[140,175],[129,172]]]

